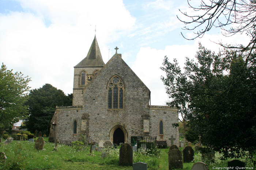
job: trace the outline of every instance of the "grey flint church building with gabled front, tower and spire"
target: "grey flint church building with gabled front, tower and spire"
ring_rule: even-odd
[[[56,107],[49,141],[67,143],[86,134],[96,143],[131,144],[150,135],[178,146],[178,127],[172,126],[178,123],[177,108],[151,106],[150,90],[115,49],[105,64],[94,37],[86,58],[74,67],[72,106]]]

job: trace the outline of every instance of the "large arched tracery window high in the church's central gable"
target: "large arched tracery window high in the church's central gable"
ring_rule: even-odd
[[[123,109],[124,84],[117,75],[108,84],[108,108]]]

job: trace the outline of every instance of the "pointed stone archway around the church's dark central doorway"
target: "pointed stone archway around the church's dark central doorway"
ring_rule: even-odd
[[[109,132],[110,141],[119,145],[119,143],[127,143],[128,134],[126,129],[117,124]]]

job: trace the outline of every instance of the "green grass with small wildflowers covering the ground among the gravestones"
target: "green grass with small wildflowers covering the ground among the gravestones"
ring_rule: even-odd
[[[48,141],[48,138],[44,138]],[[1,145],[0,152],[5,152],[7,160],[0,162],[0,169],[52,169],[52,170],[132,170],[132,167],[119,166],[119,149],[105,150],[107,157],[102,157],[101,152],[93,151],[90,154],[90,148],[79,151],[78,149],[59,144],[59,152],[52,151],[55,144],[46,142],[44,150],[34,149],[34,143],[28,141],[13,141],[9,145]],[[161,153],[157,157],[147,154],[145,150],[133,153],[133,162],[147,163],[148,170],[167,170],[168,169],[168,151],[169,149],[160,149]],[[182,148],[180,148],[182,151]],[[215,163],[208,164],[209,169],[213,166],[226,167],[227,161],[219,160],[220,155],[215,154]],[[194,161],[183,163],[183,169],[190,170],[194,162],[201,160],[201,154],[195,153]],[[244,161],[242,158],[241,161]]]

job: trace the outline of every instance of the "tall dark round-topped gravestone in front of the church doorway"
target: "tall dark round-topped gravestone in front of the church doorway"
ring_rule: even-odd
[[[132,166],[132,154],[132,146],[128,143],[124,143],[119,150],[119,165]]]

